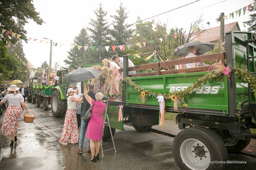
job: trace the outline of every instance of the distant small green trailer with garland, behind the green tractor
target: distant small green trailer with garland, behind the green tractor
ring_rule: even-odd
[[[51,104],[54,85],[33,85],[32,103],[36,103],[37,107],[40,107],[41,101],[43,101],[43,109],[48,110],[49,104]]]

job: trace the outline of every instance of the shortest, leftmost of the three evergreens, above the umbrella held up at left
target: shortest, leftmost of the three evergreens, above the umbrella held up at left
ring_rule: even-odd
[[[82,28],[79,35],[75,37],[74,43],[72,45],[78,46],[88,46],[90,44],[90,38],[85,28]],[[87,49],[89,50],[89,49]],[[66,64],[69,65],[70,68],[77,69],[79,66],[85,63],[84,53],[85,49],[82,47],[80,50],[78,47],[74,47],[68,52],[68,60],[64,60]]]

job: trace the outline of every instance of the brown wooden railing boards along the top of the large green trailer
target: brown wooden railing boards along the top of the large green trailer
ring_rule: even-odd
[[[215,54],[200,55],[200,56],[196,56],[196,57],[171,60],[171,61],[160,62],[160,63],[152,63],[152,64],[134,66],[134,67],[129,67],[129,71],[137,71],[137,70],[152,69],[152,68],[157,68],[157,71],[131,74],[131,75],[129,75],[129,77],[145,77],[145,76],[152,76],[152,75],[165,75],[165,74],[207,71],[210,68],[210,66],[185,68],[185,69],[178,69],[178,70],[166,70],[166,71],[160,71],[160,68],[175,66],[175,65],[179,65],[179,64],[197,63],[197,62],[205,62],[205,61],[213,61],[213,60],[221,60],[222,62],[224,62],[225,58],[226,58],[226,52],[221,52],[221,53],[215,53]],[[119,72],[123,72],[123,68],[119,69]]]

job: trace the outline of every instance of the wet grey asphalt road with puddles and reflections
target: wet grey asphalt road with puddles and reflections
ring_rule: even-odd
[[[20,117],[18,141],[10,147],[10,137],[0,132],[0,170],[164,170],[179,169],[172,155],[173,137],[145,132],[139,133],[133,127],[125,125],[125,131],[117,130],[114,150],[104,152],[100,160],[91,162],[90,155],[77,154],[78,144],[61,145],[64,118],[55,118],[49,105],[44,111],[42,104],[26,103],[36,118],[33,123],[25,123]],[[0,116],[2,126],[4,115]],[[87,140],[83,151],[86,152]],[[103,142],[103,150],[113,148],[112,140]],[[229,160],[244,160],[246,164],[229,164],[226,170],[255,169],[256,158],[243,154],[229,155]]]

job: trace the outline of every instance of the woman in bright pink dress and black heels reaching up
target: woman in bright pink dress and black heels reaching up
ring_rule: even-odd
[[[95,100],[91,99],[91,97],[87,94],[86,84],[83,82],[84,86],[84,96],[90,105],[93,105],[93,109],[91,111],[91,118],[87,126],[87,138],[90,139],[90,149],[91,149],[91,161],[96,162],[96,159],[99,160],[99,152],[100,152],[100,140],[102,139],[103,133],[103,113],[106,109],[106,104],[102,103],[101,100],[103,98],[103,94],[101,92],[95,95]],[[95,156],[96,149],[96,156]]]

